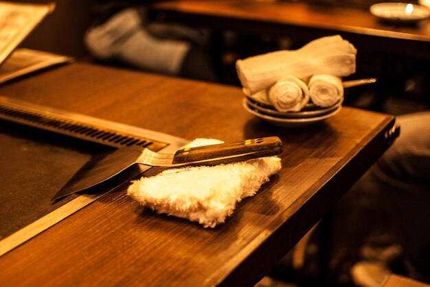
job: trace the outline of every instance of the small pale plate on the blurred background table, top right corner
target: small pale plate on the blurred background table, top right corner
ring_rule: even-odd
[[[411,3],[378,3],[370,6],[370,13],[385,21],[410,22],[429,18],[430,10]]]

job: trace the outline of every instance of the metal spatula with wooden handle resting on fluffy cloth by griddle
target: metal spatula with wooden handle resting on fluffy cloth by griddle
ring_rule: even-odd
[[[281,152],[282,141],[277,136],[184,148],[176,153],[156,153],[150,149],[122,147],[91,158],[52,200],[98,186],[133,164],[162,167],[215,165],[278,155]]]

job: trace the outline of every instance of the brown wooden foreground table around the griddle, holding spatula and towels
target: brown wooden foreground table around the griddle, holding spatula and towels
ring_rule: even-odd
[[[205,229],[111,192],[0,257],[1,286],[255,284],[387,149],[394,117],[343,108],[284,129],[241,105],[239,88],[75,63],[0,95],[188,138],[280,136],[282,170],[227,222]]]

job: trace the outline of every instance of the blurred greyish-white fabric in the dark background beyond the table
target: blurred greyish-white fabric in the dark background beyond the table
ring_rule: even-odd
[[[142,27],[135,8],[118,12],[106,23],[89,29],[89,51],[101,60],[121,60],[148,71],[177,75],[190,43],[155,38]]]

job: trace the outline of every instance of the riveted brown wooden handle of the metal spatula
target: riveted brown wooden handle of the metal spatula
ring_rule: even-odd
[[[199,162],[201,160],[216,160],[219,158],[219,160],[212,162],[212,164],[220,164],[237,162],[237,158],[240,158],[240,160],[250,160],[251,158],[278,155],[281,152],[282,141],[280,138],[278,138],[278,136],[270,136],[267,138],[243,140],[241,142],[179,149],[179,151],[174,154],[172,163],[182,164],[187,162]],[[211,162],[207,164],[211,164]]]

